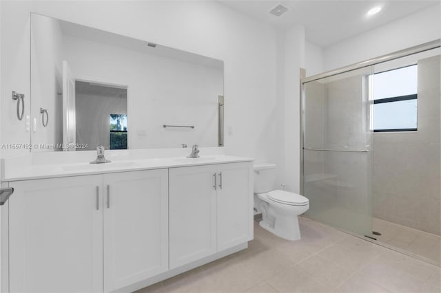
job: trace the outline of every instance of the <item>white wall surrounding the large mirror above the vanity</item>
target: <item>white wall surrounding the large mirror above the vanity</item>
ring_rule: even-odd
[[[280,163],[277,36],[264,23],[205,1],[1,1],[1,6],[2,60],[7,61],[2,72],[10,76],[2,80],[3,142],[29,136],[14,120],[9,95],[12,89],[29,93],[26,45],[33,11],[225,61],[227,153]]]

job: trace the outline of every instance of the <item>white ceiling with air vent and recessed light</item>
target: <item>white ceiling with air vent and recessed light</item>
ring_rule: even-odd
[[[303,24],[308,41],[320,47],[329,47],[356,34],[372,30],[424,8],[435,6],[440,3],[440,0],[220,0],[220,3],[280,30],[288,30],[295,25]],[[269,14],[269,10],[278,4],[286,6],[289,10],[280,17]],[[378,14],[367,17],[367,11],[374,6],[382,6],[382,10]],[[437,9],[440,10],[439,6]]]

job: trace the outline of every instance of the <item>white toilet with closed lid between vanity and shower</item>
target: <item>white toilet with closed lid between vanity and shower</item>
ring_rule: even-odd
[[[260,226],[288,240],[300,239],[297,216],[309,209],[309,199],[296,193],[274,190],[275,164],[254,164],[254,201],[262,210]]]

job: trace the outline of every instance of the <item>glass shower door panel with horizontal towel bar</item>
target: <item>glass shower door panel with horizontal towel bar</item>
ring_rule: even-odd
[[[371,67],[303,84],[303,195],[307,216],[371,237]]]

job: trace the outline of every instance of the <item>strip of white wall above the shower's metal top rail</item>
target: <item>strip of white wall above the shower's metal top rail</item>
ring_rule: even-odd
[[[325,48],[325,71],[441,38],[440,4]]]

